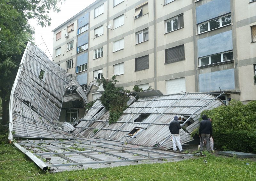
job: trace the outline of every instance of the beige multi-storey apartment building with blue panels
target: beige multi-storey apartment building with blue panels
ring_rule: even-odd
[[[97,0],[53,30],[54,62],[84,90],[118,75],[130,91],[221,90],[226,104],[246,103],[256,99],[255,10],[256,0]]]

